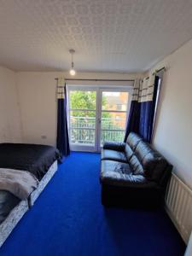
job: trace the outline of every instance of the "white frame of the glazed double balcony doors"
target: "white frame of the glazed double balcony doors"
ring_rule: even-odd
[[[68,134],[70,142],[70,100],[69,100],[69,91],[70,90],[89,90],[96,91],[96,132],[95,132],[95,145],[84,145],[84,144],[73,144],[70,143],[70,148],[73,151],[86,151],[86,152],[100,152],[102,146],[101,142],[101,120],[102,120],[102,91],[126,91],[129,93],[128,102],[127,102],[127,113],[126,120],[128,118],[128,113],[131,106],[131,94],[133,87],[131,85],[107,85],[107,84],[66,84],[67,90],[67,124],[68,124]],[[89,111],[89,110],[85,110]],[[118,111],[111,111],[118,112]]]

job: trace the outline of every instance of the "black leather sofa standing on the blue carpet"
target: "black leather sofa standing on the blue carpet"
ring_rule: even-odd
[[[164,203],[172,165],[142,137],[131,132],[126,143],[106,142],[102,149],[102,204],[156,207]]]

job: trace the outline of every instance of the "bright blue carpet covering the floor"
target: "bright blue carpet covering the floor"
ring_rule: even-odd
[[[100,154],[72,153],[0,249],[3,256],[182,256],[165,212],[105,209]]]

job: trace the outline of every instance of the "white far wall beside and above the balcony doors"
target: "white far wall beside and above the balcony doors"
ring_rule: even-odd
[[[20,97],[20,113],[25,143],[55,145],[56,101],[55,78],[67,73],[20,72],[17,84]],[[78,73],[75,79],[135,79],[136,74]],[[45,139],[42,136],[46,136]]]

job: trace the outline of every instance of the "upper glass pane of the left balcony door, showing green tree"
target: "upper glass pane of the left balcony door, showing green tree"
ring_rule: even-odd
[[[96,109],[96,91],[70,90],[71,109]]]

